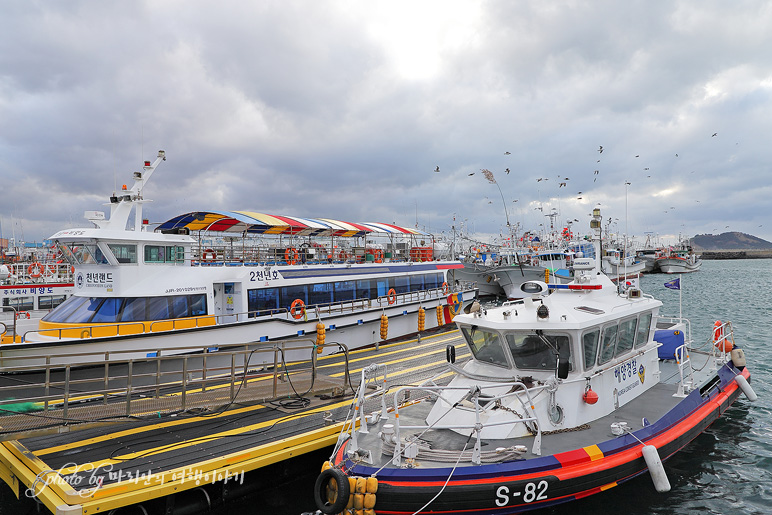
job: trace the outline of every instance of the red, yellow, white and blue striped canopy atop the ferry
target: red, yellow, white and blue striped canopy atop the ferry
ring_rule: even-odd
[[[299,218],[268,215],[253,211],[194,211],[162,223],[157,231],[187,228],[190,231],[216,231],[252,234],[293,234],[298,236],[358,237],[365,234],[405,234],[428,236],[417,229],[384,223],[352,223],[331,218]]]

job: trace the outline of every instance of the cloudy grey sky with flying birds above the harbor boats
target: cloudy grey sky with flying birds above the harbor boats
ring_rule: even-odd
[[[455,217],[492,237],[506,214],[584,230],[599,206],[638,239],[772,240],[769,2],[9,0],[0,18],[3,237],[87,226],[164,149],[151,223]]]

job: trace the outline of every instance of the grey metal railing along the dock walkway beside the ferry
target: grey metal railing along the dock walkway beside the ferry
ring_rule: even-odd
[[[61,364],[53,363],[57,355],[17,357],[18,360],[44,359],[46,365],[0,368],[2,377],[36,374],[33,384],[3,381],[0,440],[47,429],[52,420],[70,425],[122,420],[148,413],[160,417],[161,413],[229,406],[237,400],[267,402],[290,398],[293,393],[306,395],[341,388],[345,391],[350,381],[348,348],[337,342],[326,345],[337,346],[344,354],[342,381],[320,380],[317,346],[310,339],[221,346],[216,352],[206,347],[147,348],[140,350],[147,353],[144,359],[120,357],[137,350],[82,352],[68,356],[90,356],[92,361],[79,362],[77,366],[67,364],[63,369]],[[172,351],[187,353],[167,354]],[[309,357],[288,361],[288,353],[294,356],[308,353]],[[272,358],[253,362],[259,354],[272,355]],[[102,356],[104,361],[100,359]],[[13,359],[7,358],[6,362]],[[25,415],[20,411],[33,413]],[[9,436],[9,432],[14,434]]]

